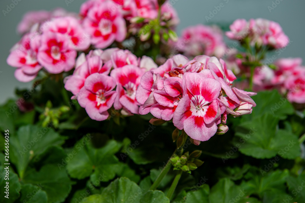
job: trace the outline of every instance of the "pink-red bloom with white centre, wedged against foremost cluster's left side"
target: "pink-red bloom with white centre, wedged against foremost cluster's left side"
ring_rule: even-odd
[[[114,103],[115,109],[125,107],[133,114],[139,113],[140,104],[136,100],[136,90],[145,70],[135,65],[126,65],[122,68],[114,69],[110,75],[117,81],[117,99]]]

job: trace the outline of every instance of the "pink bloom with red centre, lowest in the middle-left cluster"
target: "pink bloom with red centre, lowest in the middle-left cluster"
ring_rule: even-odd
[[[108,109],[113,105],[117,92],[115,79],[108,75],[94,73],[88,76],[77,100],[85,108],[89,117],[97,121],[106,120]]]

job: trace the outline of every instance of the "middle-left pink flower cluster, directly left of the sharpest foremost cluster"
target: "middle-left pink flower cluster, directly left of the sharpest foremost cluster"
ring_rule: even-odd
[[[74,73],[66,78],[65,88],[94,120],[106,120],[107,110],[112,105],[116,110],[122,109],[122,114],[138,114],[140,104],[135,98],[136,89],[145,71],[156,67],[151,58],[138,59],[128,50],[95,49],[77,58]]]

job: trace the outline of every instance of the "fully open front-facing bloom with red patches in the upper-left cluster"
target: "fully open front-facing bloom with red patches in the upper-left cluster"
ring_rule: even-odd
[[[41,35],[37,60],[49,73],[70,71],[74,67],[76,54],[64,34],[46,32]]]

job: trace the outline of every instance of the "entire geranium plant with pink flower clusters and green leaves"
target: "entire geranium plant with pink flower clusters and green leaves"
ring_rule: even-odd
[[[265,62],[281,26],[238,19],[233,50],[178,22],[160,0],[24,16],[7,63],[33,87],[0,108],[1,202],[304,202],[305,68]]]

